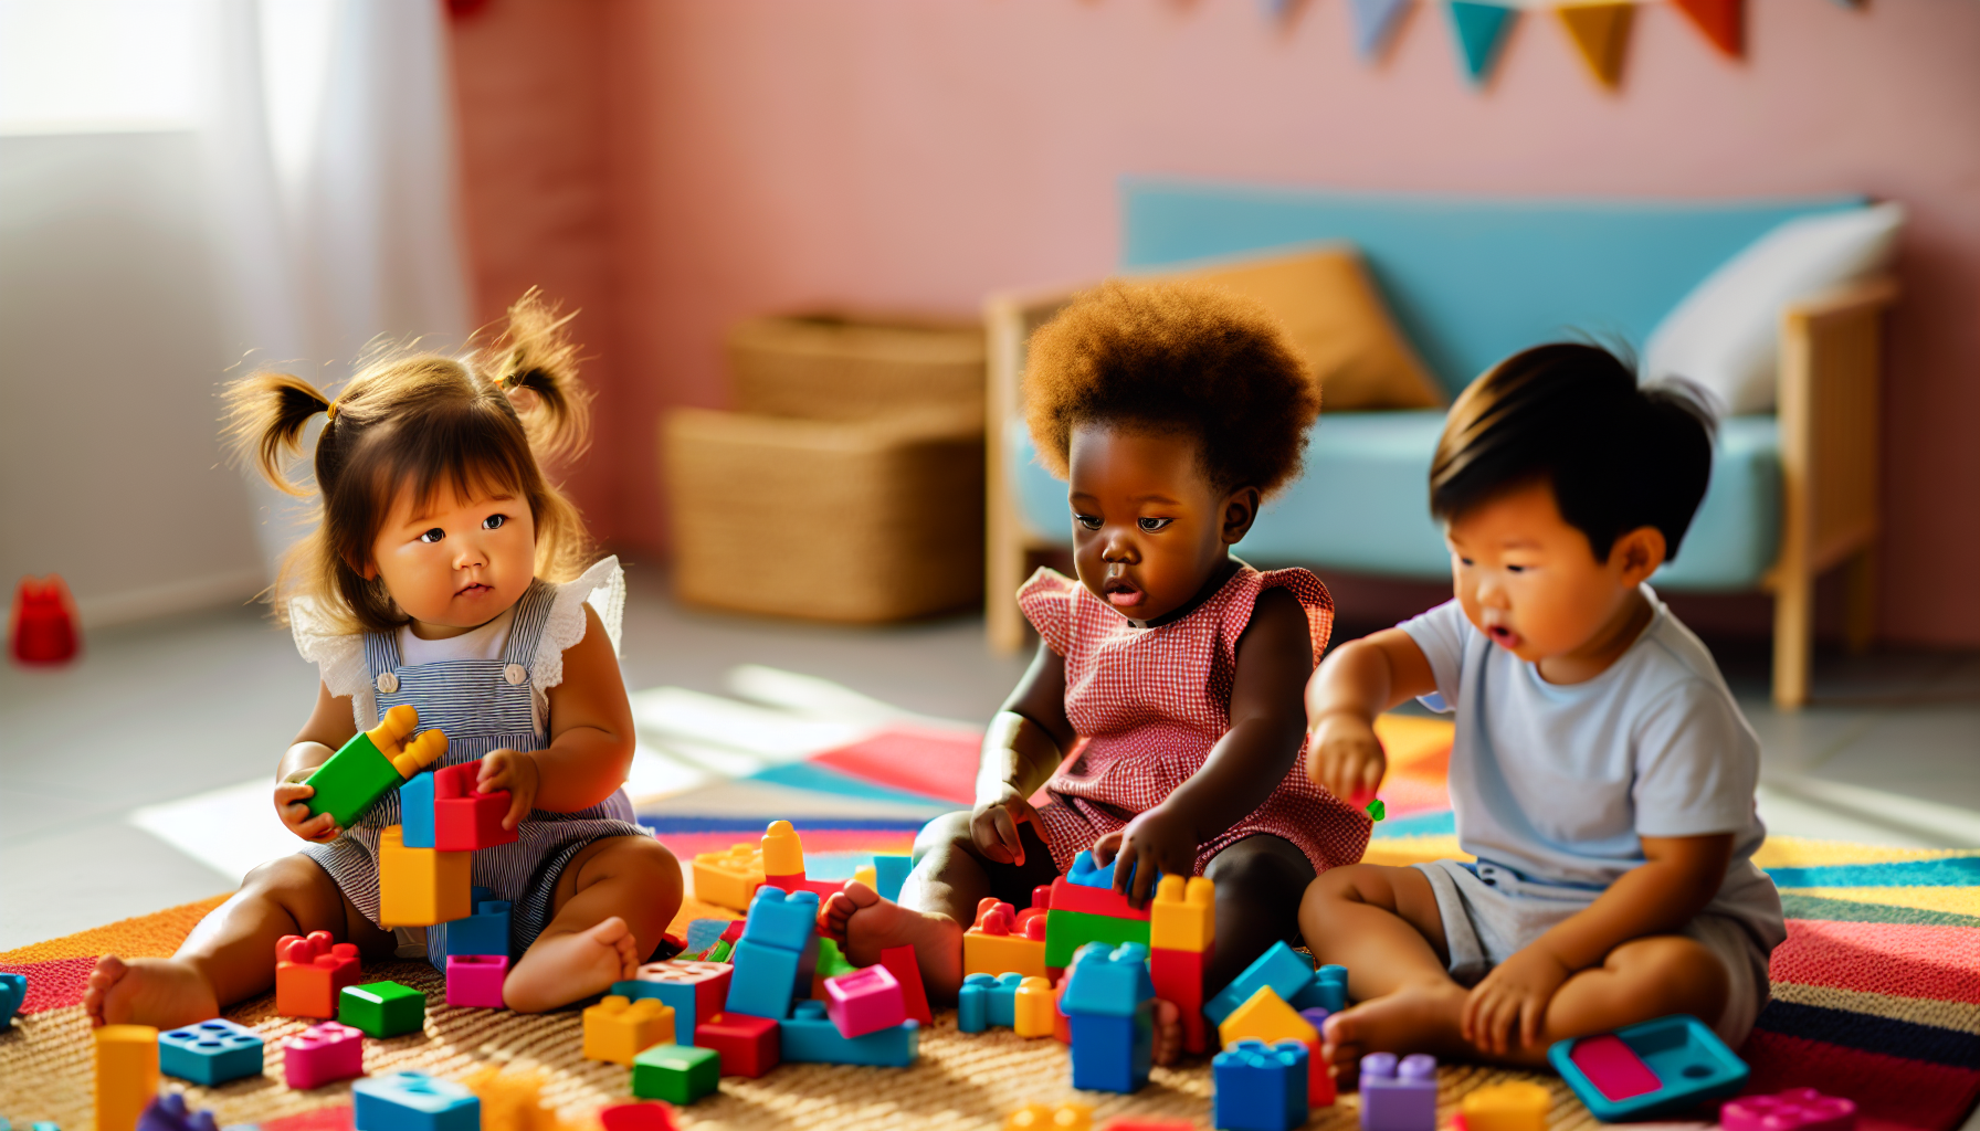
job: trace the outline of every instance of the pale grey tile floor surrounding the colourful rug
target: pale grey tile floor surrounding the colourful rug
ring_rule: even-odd
[[[1764,648],[1715,648],[1762,737],[1770,828],[1980,846],[1980,656],[1826,656],[1822,703],[1778,715],[1764,699]],[[727,693],[742,664],[978,723],[1024,669],[1024,658],[988,654],[980,618],[754,620],[683,610],[663,576],[632,576],[630,687]],[[232,887],[234,875],[145,832],[133,812],[269,774],[313,697],[313,669],[255,610],[105,630],[75,666],[0,669],[0,949]]]

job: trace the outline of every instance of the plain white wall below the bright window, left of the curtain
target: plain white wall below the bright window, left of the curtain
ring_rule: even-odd
[[[198,184],[190,133],[0,137],[0,582],[85,630],[263,584]]]

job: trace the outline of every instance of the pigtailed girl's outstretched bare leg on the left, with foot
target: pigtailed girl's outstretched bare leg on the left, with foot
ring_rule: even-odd
[[[315,860],[283,856],[249,872],[170,959],[99,959],[83,992],[89,1024],[174,1028],[220,1016],[224,1006],[275,984],[275,943],[283,935],[311,931],[356,943],[366,959],[394,949],[392,935],[364,919]]]

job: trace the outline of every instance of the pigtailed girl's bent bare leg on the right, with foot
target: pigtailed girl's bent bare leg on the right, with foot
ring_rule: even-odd
[[[681,866],[649,836],[610,836],[556,877],[552,919],[503,982],[503,1002],[543,1012],[588,998],[659,947],[681,909]]]

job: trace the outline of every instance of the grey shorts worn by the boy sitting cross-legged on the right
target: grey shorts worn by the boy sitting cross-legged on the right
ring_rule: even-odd
[[[1451,978],[1463,986],[1477,984],[1487,971],[1600,895],[1594,889],[1531,883],[1485,862],[1437,860],[1412,868],[1428,875],[1437,893]],[[1727,1008],[1717,1020],[1711,1020],[1719,1040],[1736,1050],[1766,1008],[1766,951],[1729,915],[1701,913],[1679,933],[1697,939],[1727,969]]]

